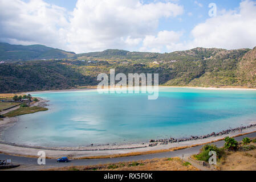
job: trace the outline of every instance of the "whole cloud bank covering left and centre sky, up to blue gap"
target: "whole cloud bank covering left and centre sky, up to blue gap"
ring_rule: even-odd
[[[155,34],[160,18],[183,11],[176,3],[139,0],[78,0],[73,12],[43,0],[1,0],[0,41],[76,52],[132,49]]]

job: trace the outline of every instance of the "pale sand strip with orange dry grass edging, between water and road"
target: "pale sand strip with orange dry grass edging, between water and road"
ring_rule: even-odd
[[[44,147],[33,148],[32,146],[13,146],[10,144],[5,144],[0,142],[0,153],[6,155],[14,155],[14,156],[27,156],[30,158],[37,158],[38,151],[43,150],[46,152],[47,158],[59,158],[61,156],[68,156],[69,158],[88,158],[88,159],[97,159],[97,158],[115,158],[117,156],[133,156],[133,155],[145,155],[145,154],[155,154],[161,152],[167,152],[172,150],[179,150],[184,148],[190,148],[195,146],[201,146],[207,143],[213,143],[220,140],[223,140],[225,137],[239,137],[242,135],[247,135],[251,133],[256,133],[256,127],[245,129],[242,132],[234,132],[229,133],[217,137],[210,137],[205,139],[198,139],[198,140],[189,140],[184,142],[177,142],[177,143],[169,143],[169,144],[162,144],[153,147],[133,147],[133,148],[109,148],[100,150],[75,150],[74,147],[67,148],[59,148],[57,149],[50,149]],[[123,145],[129,147],[128,145]],[[102,147],[102,146],[101,146]],[[73,148],[73,149],[72,149]],[[78,147],[79,148],[79,147]],[[82,148],[81,148],[82,149]]]

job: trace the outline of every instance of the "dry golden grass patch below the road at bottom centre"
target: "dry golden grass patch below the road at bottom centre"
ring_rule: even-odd
[[[139,160],[137,162],[99,164],[96,166],[71,166],[53,168],[48,171],[199,171],[196,167],[182,162],[180,158]]]

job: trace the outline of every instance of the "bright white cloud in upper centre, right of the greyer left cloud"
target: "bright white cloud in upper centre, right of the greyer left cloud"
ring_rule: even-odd
[[[79,52],[129,49],[154,34],[162,17],[175,17],[183,7],[174,3],[143,4],[137,0],[79,0],[70,19],[70,48]]]

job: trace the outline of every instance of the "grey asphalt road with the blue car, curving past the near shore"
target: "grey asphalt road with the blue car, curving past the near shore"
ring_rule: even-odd
[[[238,141],[242,141],[243,138],[256,137],[256,133],[244,135],[241,137],[236,137],[235,139]],[[224,141],[215,142],[217,147],[224,146]],[[159,154],[148,154],[148,155],[139,155],[139,156],[129,156],[124,158],[111,158],[111,159],[83,159],[83,160],[72,160],[69,163],[57,163],[54,159],[46,159],[46,167],[64,167],[64,166],[90,166],[96,164],[108,164],[108,163],[119,163],[119,162],[131,162],[136,160],[147,160],[147,159],[155,159],[155,158],[173,158],[173,157],[181,157],[189,156],[192,154],[197,154],[200,151],[202,146],[186,148],[184,150],[172,151],[172,152],[164,152]],[[0,154],[0,160],[12,159],[13,163],[23,164],[26,166],[34,166],[37,165],[37,159],[35,158],[25,158],[19,156],[11,156]]]

